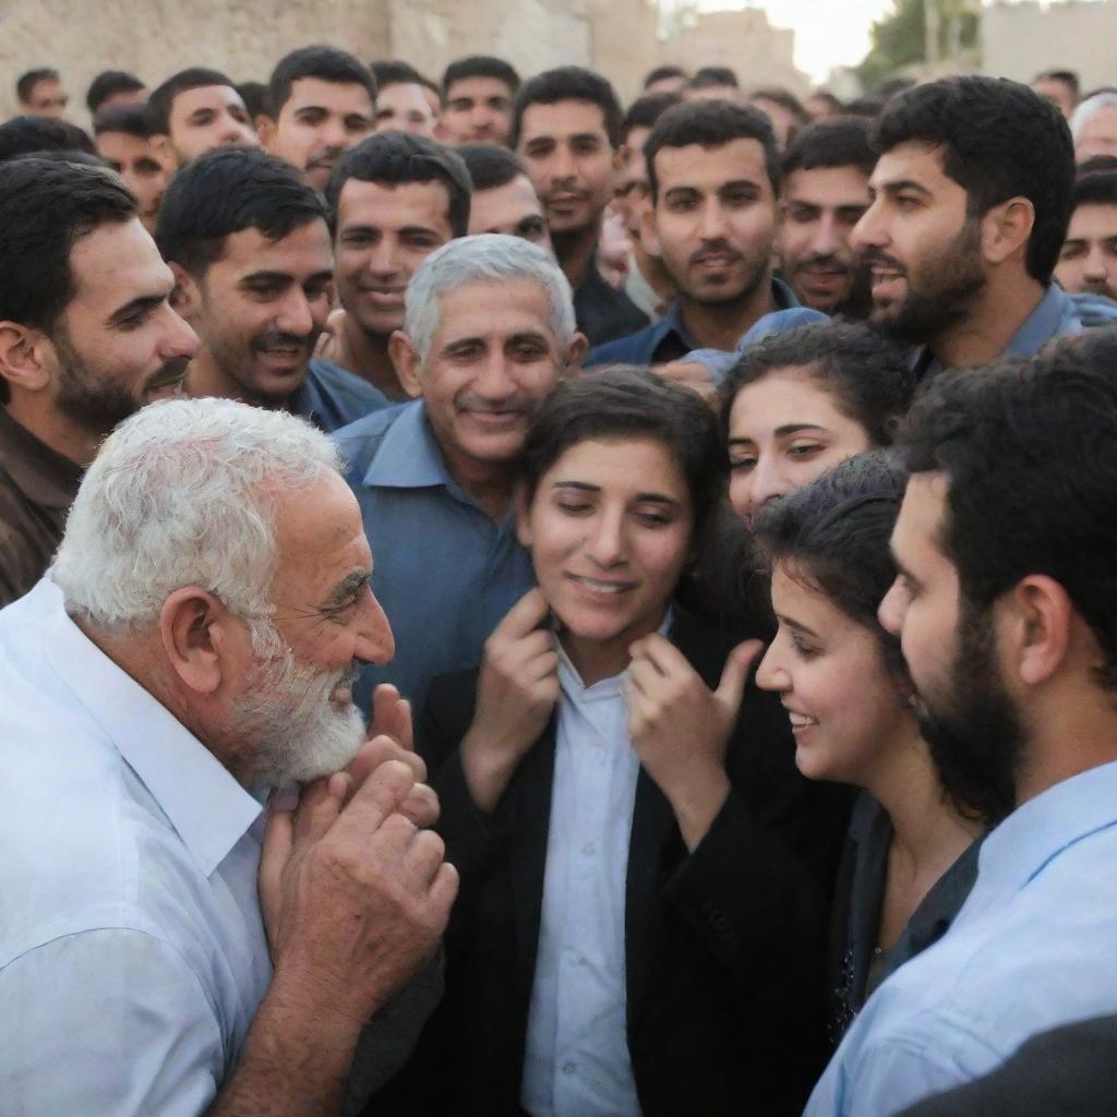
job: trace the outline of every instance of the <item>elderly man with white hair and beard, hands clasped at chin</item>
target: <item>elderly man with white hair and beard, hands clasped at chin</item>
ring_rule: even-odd
[[[153,404],[0,612],[4,1113],[341,1111],[437,948],[437,801],[398,696],[363,744],[350,695],[393,641],[338,464],[288,414]]]

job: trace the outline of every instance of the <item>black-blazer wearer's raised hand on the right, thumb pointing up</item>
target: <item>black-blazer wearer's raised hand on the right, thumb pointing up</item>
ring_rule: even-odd
[[[629,649],[629,737],[690,849],[706,836],[729,791],[725,750],[761,648],[760,640],[734,648],[714,691],[659,633]]]

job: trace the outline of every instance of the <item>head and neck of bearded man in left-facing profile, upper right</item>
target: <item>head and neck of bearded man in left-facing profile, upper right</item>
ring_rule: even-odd
[[[1081,332],[1051,281],[1075,181],[1054,105],[1005,78],[944,78],[894,97],[872,146],[872,204],[851,242],[870,270],[869,321],[924,347],[920,375]]]

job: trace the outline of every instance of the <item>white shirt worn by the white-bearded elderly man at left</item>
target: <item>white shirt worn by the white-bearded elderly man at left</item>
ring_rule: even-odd
[[[66,615],[0,611],[0,1110],[194,1117],[271,980],[264,813]]]

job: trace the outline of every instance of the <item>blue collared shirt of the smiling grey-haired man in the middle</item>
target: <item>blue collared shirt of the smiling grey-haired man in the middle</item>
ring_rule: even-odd
[[[422,400],[336,433],[372,547],[372,590],[395,657],[354,688],[367,710],[393,682],[418,712],[436,675],[476,666],[485,640],[534,584],[512,510],[497,524],[450,476]]]

